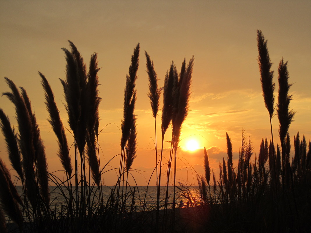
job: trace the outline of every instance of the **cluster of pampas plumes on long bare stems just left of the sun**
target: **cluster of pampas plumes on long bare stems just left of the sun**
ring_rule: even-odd
[[[145,51],[146,55],[146,67],[147,74],[149,78],[149,93],[147,94],[150,98],[152,116],[155,119],[155,128],[156,128],[156,117],[159,110],[159,100],[162,88],[158,87],[157,74],[154,69],[154,64],[150,59],[150,56]],[[159,230],[158,221],[159,221],[159,210],[160,210],[160,186],[162,178],[162,167],[163,167],[163,147],[164,147],[164,136],[167,132],[169,125],[172,126],[172,140],[170,141],[170,153],[167,162],[166,169],[166,182],[165,182],[165,197],[163,215],[163,224],[167,222],[167,209],[169,207],[169,181],[171,180],[171,175],[174,176],[174,194],[173,194],[173,203],[172,203],[172,221],[174,222],[174,209],[175,209],[175,186],[176,186],[176,155],[177,148],[179,145],[179,136],[181,132],[181,126],[183,121],[186,119],[189,111],[189,98],[191,95],[191,81],[192,81],[192,71],[193,71],[194,57],[189,61],[188,66],[186,66],[186,60],[184,59],[181,67],[181,71],[178,74],[177,68],[172,61],[170,67],[168,68],[163,87],[163,107],[162,107],[162,116],[161,116],[161,134],[162,134],[162,143],[161,143],[161,153],[160,158],[158,159],[157,152],[157,139],[155,138],[155,152],[156,152],[156,231]],[[174,157],[173,157],[174,156]],[[174,171],[171,169],[174,162]],[[162,225],[164,227],[164,225]],[[162,228],[163,230],[164,228]]]

